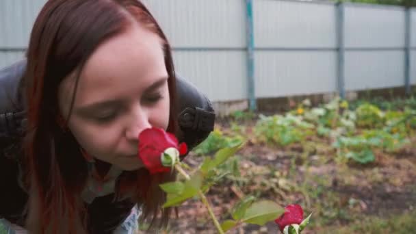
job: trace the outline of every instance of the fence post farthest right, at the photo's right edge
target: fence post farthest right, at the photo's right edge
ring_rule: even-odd
[[[404,87],[411,94],[411,9],[406,7],[404,29]]]

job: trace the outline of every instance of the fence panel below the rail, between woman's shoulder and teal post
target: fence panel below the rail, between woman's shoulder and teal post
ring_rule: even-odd
[[[245,51],[176,51],[174,62],[211,101],[247,99]]]

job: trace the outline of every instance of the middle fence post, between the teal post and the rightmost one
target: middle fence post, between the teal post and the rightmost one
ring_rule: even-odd
[[[345,99],[345,44],[344,44],[344,3],[337,3],[337,44],[338,44],[338,67],[337,67],[337,79],[338,79],[338,92],[341,99]]]

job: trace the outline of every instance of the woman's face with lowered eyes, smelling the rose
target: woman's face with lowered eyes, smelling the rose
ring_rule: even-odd
[[[101,44],[79,77],[68,128],[92,157],[123,170],[142,167],[138,135],[148,127],[167,129],[168,73],[161,39],[137,25]],[[59,90],[67,116],[75,76]]]

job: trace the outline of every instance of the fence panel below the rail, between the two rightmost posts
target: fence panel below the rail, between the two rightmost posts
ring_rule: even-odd
[[[346,52],[346,90],[404,86],[404,51]]]

